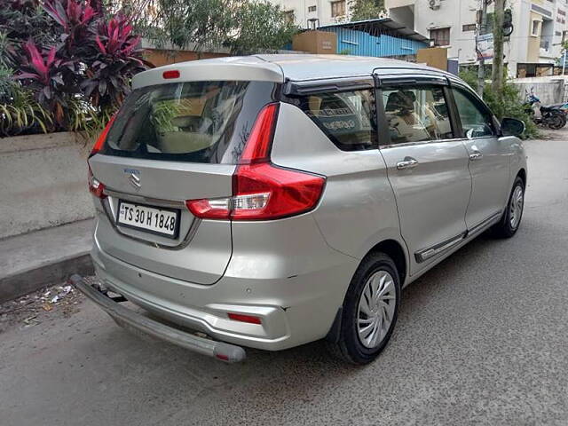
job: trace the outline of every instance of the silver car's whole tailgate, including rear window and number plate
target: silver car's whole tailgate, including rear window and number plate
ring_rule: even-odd
[[[234,164],[274,89],[214,81],[133,91],[89,160],[106,188],[95,201],[100,250],[172,278],[216,282],[231,258],[231,223],[197,219],[185,201],[232,195]]]

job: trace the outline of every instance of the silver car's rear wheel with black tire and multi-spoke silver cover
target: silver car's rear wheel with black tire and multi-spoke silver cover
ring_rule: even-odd
[[[375,293],[373,288],[376,288]],[[377,302],[366,303],[368,296],[373,294],[377,295]],[[382,299],[378,299],[380,294],[383,294]],[[361,302],[362,297],[366,302]],[[353,275],[343,301],[339,335],[337,343],[329,343],[331,351],[351,364],[364,365],[373,361],[389,343],[397,322],[399,303],[400,279],[390,256],[374,253],[365,257]],[[390,323],[387,322],[389,319]],[[359,336],[359,330],[365,327],[375,331],[370,334],[364,331]]]

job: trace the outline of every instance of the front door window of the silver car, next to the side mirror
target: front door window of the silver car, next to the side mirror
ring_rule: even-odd
[[[495,135],[491,112],[467,91],[462,89],[452,89],[452,91],[461,120],[462,137],[484,138]]]

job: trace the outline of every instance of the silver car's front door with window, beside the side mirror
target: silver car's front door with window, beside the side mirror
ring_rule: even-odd
[[[469,155],[471,197],[465,221],[469,233],[501,217],[509,195],[509,150],[501,144],[493,114],[468,88],[452,85],[457,124]]]

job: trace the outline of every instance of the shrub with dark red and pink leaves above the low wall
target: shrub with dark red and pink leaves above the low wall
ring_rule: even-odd
[[[100,0],[0,0],[0,132],[96,131],[148,66],[139,41]]]

